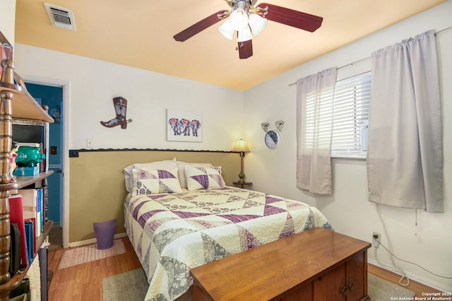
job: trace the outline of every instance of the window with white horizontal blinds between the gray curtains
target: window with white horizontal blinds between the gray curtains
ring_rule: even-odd
[[[370,71],[336,82],[331,157],[366,157],[370,85]]]

